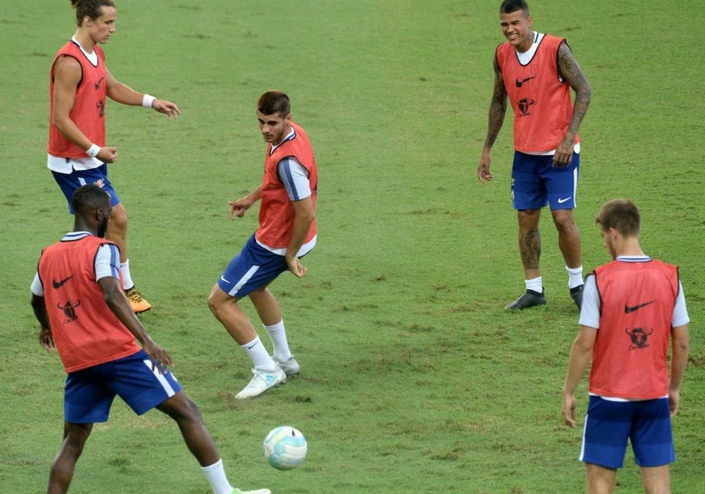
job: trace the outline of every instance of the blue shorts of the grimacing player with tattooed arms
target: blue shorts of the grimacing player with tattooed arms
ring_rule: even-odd
[[[553,166],[553,156],[514,152],[512,203],[514,209],[575,209],[580,154],[573,153],[570,166]]]

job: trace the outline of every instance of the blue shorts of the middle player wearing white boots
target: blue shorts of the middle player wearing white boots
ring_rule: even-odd
[[[218,280],[218,286],[231,297],[241,299],[269,285],[289,266],[286,257],[262,247],[253,234],[240,254],[233,257]]]

